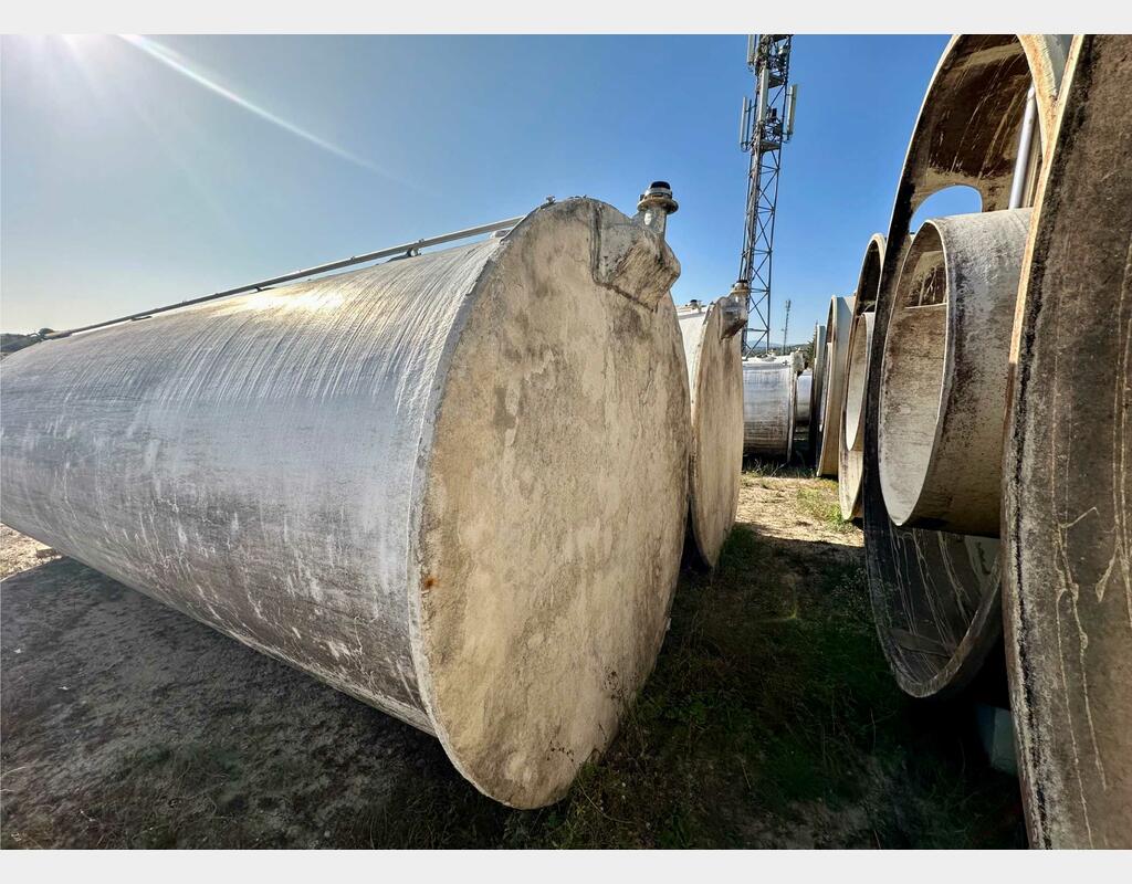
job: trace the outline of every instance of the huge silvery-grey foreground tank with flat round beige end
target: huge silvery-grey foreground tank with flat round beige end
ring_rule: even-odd
[[[678,274],[662,237],[580,198],[48,341],[3,364],[3,521],[544,805],[612,739],[668,623]]]

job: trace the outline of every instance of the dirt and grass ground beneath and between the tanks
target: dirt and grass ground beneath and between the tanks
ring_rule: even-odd
[[[1021,847],[962,703],[895,688],[832,482],[744,474],[657,670],[558,805],[5,527],[0,846]]]

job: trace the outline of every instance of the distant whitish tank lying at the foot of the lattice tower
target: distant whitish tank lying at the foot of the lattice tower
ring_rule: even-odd
[[[743,448],[756,457],[790,460],[794,450],[792,359],[743,360]]]

